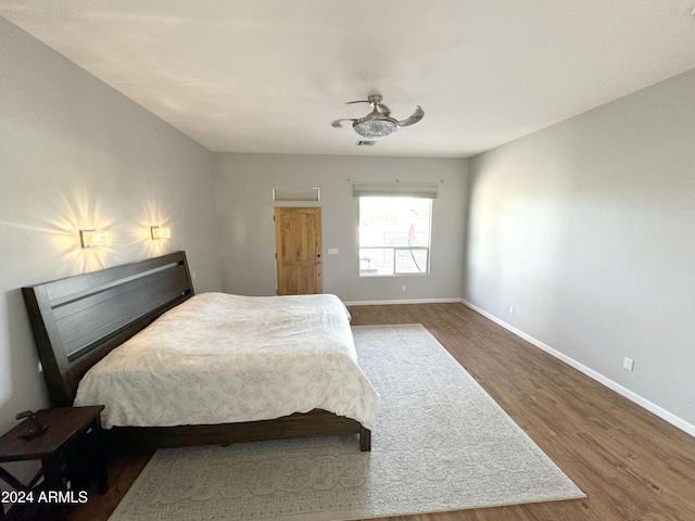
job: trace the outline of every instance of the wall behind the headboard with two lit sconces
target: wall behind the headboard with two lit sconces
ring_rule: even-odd
[[[186,250],[219,290],[213,155],[0,17],[0,431],[45,407],[21,288]],[[155,244],[149,226],[170,228]],[[79,247],[78,229],[113,232]]]

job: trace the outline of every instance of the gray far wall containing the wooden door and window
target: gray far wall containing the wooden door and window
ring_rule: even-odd
[[[361,278],[358,200],[352,196],[352,183],[396,179],[439,186],[432,209],[431,274]],[[325,292],[345,302],[460,298],[467,161],[440,158],[216,154],[225,291],[276,293],[273,187],[286,186],[320,189]],[[329,247],[340,254],[328,255]]]

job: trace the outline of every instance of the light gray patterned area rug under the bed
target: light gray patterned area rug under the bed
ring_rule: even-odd
[[[584,497],[420,325],[354,327],[381,396],[353,436],[159,450],[111,521],[353,520]]]

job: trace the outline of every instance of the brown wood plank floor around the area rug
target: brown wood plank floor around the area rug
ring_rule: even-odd
[[[408,521],[695,520],[695,439],[463,304],[351,307],[353,325],[422,323],[587,495],[389,518]],[[114,457],[108,494],[72,521],[106,520],[150,455]]]

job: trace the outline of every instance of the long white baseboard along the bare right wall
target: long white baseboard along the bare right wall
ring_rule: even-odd
[[[504,329],[513,332],[517,336],[520,336],[521,339],[526,340],[527,342],[535,345],[536,347],[540,347],[541,350],[545,351],[546,353],[549,353],[551,355],[555,356],[556,358],[563,360],[565,364],[573,367],[578,371],[583,372],[584,374],[586,374],[587,377],[592,378],[593,380],[596,380],[598,383],[604,384],[605,386],[607,386],[611,391],[615,391],[616,393],[624,396],[626,398],[630,399],[631,402],[634,402],[639,406],[644,407],[649,412],[653,412],[654,415],[658,416],[662,420],[666,420],[669,423],[671,423],[673,427],[677,427],[678,429],[680,429],[680,430],[686,432],[687,434],[690,434],[691,436],[695,437],[695,425],[694,424],[685,421],[684,419],[675,416],[672,412],[669,412],[665,408],[656,405],[653,402],[649,402],[648,399],[644,398],[643,396],[640,396],[639,394],[630,391],[629,389],[620,385],[619,383],[614,382],[609,378],[606,378],[605,376],[601,374],[599,372],[594,371],[593,369],[584,366],[583,364],[577,361],[573,358],[570,358],[569,356],[560,353],[559,351],[551,347],[549,345],[544,344],[540,340],[536,340],[533,336],[525,333],[523,331],[518,330],[514,326],[508,325],[504,320],[501,320],[500,318],[495,317],[494,315],[491,315],[490,313],[488,313],[484,309],[476,306],[475,304],[471,304],[470,302],[468,302],[468,301],[466,301],[464,298],[462,298],[460,302],[463,302],[466,306],[470,307],[472,310],[479,313],[483,317],[489,318],[493,322],[502,326]]]

